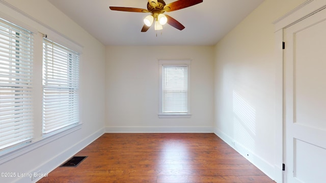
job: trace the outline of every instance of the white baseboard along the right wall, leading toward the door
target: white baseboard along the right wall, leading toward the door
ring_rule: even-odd
[[[262,172],[264,172],[268,177],[270,177],[273,180],[279,181],[279,176],[276,176],[276,172],[279,171],[276,170],[276,167],[266,162],[264,159],[253,153],[251,150],[243,146],[242,144],[238,143],[234,139],[232,139],[230,136],[226,135],[219,129],[214,129],[214,133],[219,136],[223,141],[225,141],[228,145],[230,145],[232,148],[234,148],[241,156],[246,158],[248,161],[250,161],[252,164],[254,164],[257,168],[259,168]]]

